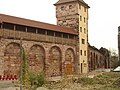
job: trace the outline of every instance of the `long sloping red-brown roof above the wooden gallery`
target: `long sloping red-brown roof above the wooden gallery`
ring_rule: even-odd
[[[28,20],[24,18],[9,16],[5,14],[0,14],[0,22],[8,22],[13,24],[31,26],[31,27],[42,28],[42,29],[47,29],[51,31],[58,31],[58,32],[78,35],[78,33],[75,32],[73,28],[62,27],[62,26],[38,22],[34,20]]]

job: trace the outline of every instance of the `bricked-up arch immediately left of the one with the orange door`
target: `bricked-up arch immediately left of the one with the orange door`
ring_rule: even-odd
[[[49,50],[49,60],[50,63],[48,67],[49,76],[60,76],[62,71],[62,54],[58,46],[53,46]]]

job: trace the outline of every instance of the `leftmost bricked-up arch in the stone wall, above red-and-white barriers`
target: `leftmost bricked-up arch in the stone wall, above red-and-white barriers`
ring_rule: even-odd
[[[4,74],[19,75],[20,68],[20,44],[11,42],[4,51]]]

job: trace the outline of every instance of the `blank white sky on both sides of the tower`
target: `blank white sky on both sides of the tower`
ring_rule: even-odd
[[[58,0],[0,0],[0,13],[56,24]],[[97,48],[118,49],[120,0],[84,0],[89,9],[89,43]]]

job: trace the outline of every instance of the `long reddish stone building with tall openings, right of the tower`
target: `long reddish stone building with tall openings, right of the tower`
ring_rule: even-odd
[[[110,53],[106,48],[97,49],[94,46],[88,46],[88,66],[89,71],[97,69],[110,68]]]

